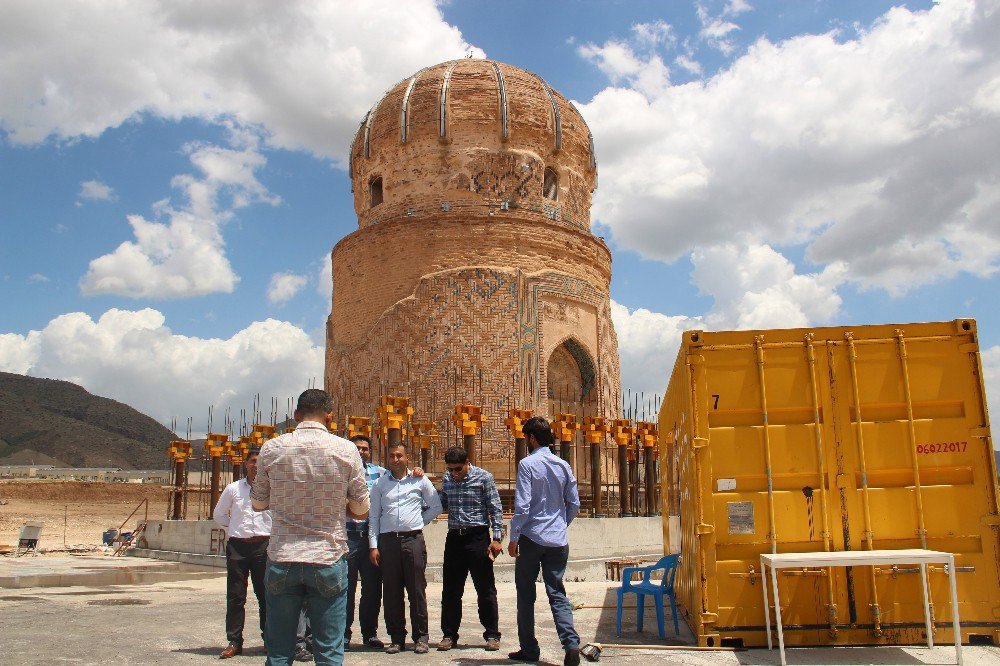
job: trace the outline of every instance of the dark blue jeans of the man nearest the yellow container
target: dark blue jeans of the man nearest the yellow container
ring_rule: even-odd
[[[566,597],[566,588],[562,582],[566,562],[569,560],[569,546],[542,546],[521,535],[517,549],[518,557],[514,560],[517,638],[525,656],[538,659],[541,654],[535,638],[535,581],[538,579],[539,569],[542,571],[542,582],[545,583],[545,594],[549,597],[559,642],[564,650],[579,648],[580,636],[573,628],[573,606]]]

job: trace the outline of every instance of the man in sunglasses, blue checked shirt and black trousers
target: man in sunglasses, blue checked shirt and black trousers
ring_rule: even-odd
[[[472,574],[479,602],[486,649],[500,649],[500,614],[493,560],[503,552],[503,509],[493,475],[469,462],[460,446],[445,451],[447,473],[441,482],[441,505],[448,513],[444,542],[444,589],[441,592],[441,633],[438,650],[458,644],[462,624],[465,579]],[[492,536],[492,540],[491,537]]]

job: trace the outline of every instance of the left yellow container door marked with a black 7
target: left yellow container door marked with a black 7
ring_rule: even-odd
[[[761,644],[764,615],[761,553],[835,547],[832,512],[839,505],[824,450],[825,358],[811,340],[765,346],[706,345],[705,384],[696,391],[707,410],[711,442],[717,629]],[[810,358],[811,354],[811,358]],[[839,524],[839,523],[838,523]],[[704,543],[705,541],[703,541]],[[781,601],[786,640],[829,642],[834,581],[825,570],[786,571]]]

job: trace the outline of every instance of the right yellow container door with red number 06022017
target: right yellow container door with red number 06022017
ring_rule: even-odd
[[[962,627],[991,636],[1000,627],[1000,550],[979,361],[960,323],[951,334],[942,326],[828,341],[837,545],[955,553]],[[935,639],[951,641],[948,576],[929,569]],[[854,625],[851,642],[924,640],[918,568],[845,573],[840,621]]]

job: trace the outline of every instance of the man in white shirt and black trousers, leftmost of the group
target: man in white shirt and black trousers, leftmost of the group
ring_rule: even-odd
[[[246,618],[247,576],[260,609],[260,632],[264,635],[267,603],[264,597],[264,571],[267,569],[267,541],[271,534],[271,512],[254,511],[250,489],[257,476],[259,449],[247,453],[246,477],[226,486],[215,505],[212,518],[229,537],[226,541],[226,638],[229,646],[222,659],[243,652],[243,623]]]

